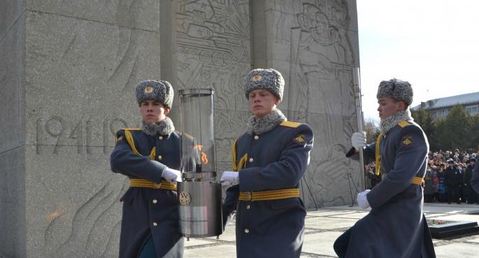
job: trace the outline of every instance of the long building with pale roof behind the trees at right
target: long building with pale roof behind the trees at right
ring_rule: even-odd
[[[424,108],[431,118],[447,117],[449,110],[456,105],[461,105],[469,115],[479,114],[479,92],[473,92],[468,94],[461,94],[457,96],[447,96],[440,99],[431,99],[426,102],[421,102],[412,108],[413,111]]]

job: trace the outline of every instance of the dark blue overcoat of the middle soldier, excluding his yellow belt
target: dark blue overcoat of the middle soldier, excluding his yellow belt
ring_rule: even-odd
[[[298,187],[308,167],[313,130],[283,122],[261,135],[243,134],[235,147],[237,163],[246,154],[248,159],[239,170],[239,185],[227,191],[223,215],[227,222],[236,210],[237,257],[299,258],[306,217],[301,198],[238,201],[238,194]]]

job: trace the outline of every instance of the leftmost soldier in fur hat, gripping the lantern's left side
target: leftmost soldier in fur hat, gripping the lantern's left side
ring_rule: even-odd
[[[180,258],[176,181],[180,176],[180,134],[167,117],[173,87],[145,80],[136,87],[143,126],[117,132],[111,169],[129,178],[123,202],[120,258]]]

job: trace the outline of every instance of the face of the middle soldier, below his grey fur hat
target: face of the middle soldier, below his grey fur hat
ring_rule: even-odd
[[[253,115],[261,118],[275,110],[280,100],[266,89],[254,89],[248,94],[248,103]]]

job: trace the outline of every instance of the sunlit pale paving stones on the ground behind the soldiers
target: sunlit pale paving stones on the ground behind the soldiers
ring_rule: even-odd
[[[333,250],[336,238],[369,210],[357,206],[338,206],[308,210],[301,258],[337,257]],[[479,205],[425,203],[428,219],[476,221],[479,223]],[[190,238],[185,244],[185,258],[234,258],[236,245],[234,221],[220,238]],[[479,235],[452,239],[434,239],[438,258],[479,257]]]

